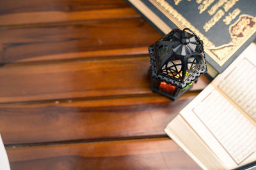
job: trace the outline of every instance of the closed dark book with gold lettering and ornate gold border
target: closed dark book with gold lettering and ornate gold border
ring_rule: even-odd
[[[255,0],[126,0],[161,34],[193,30],[221,73],[256,38]]]

